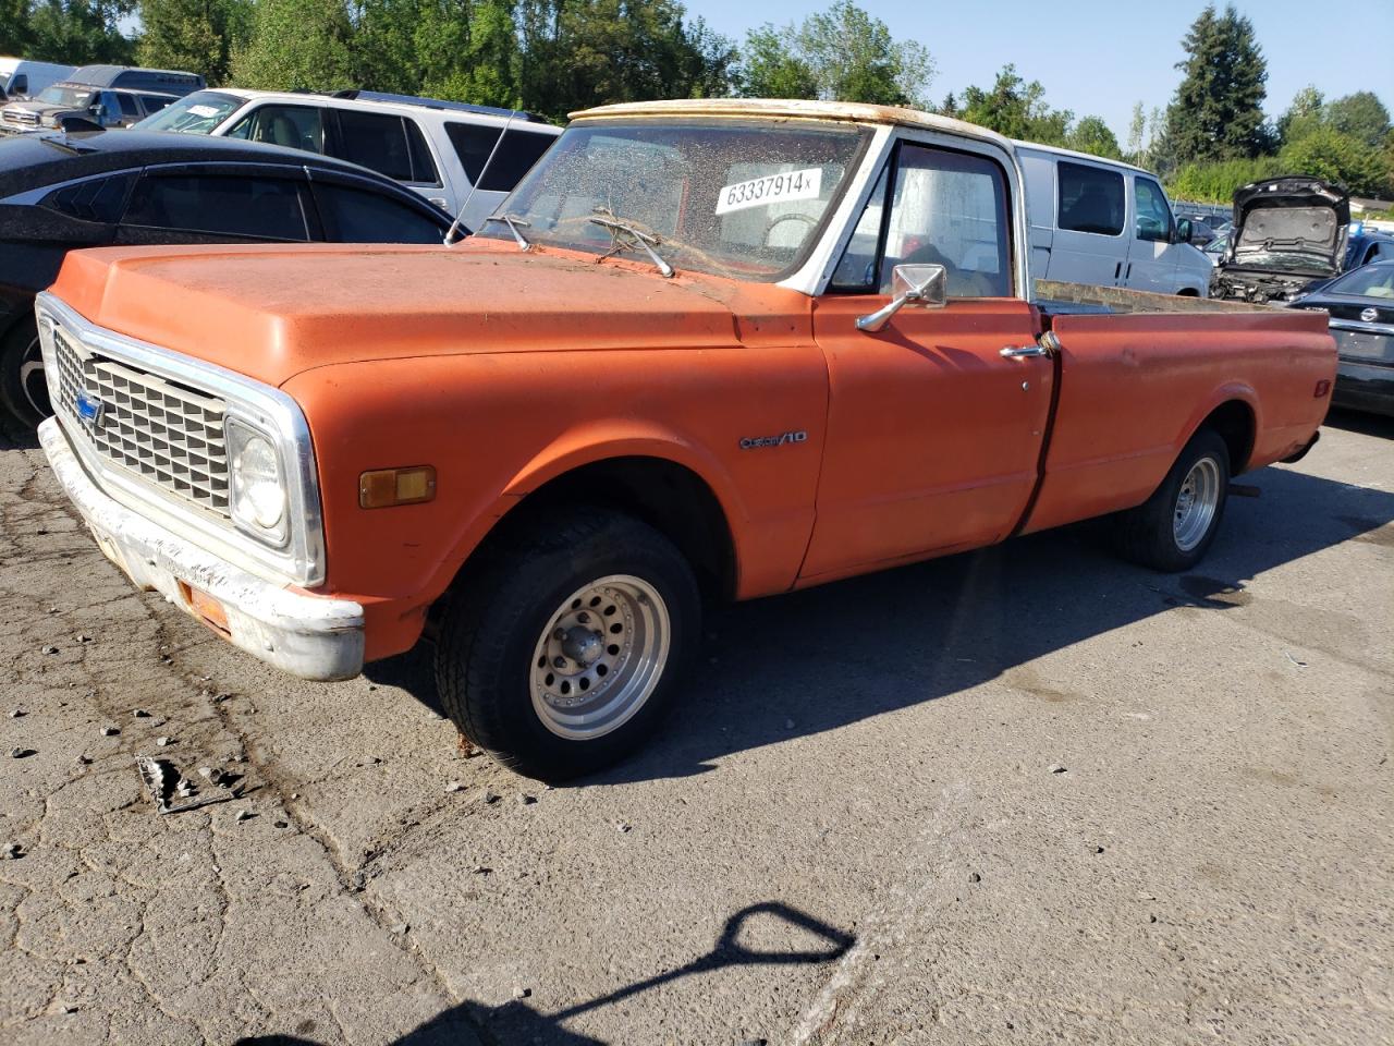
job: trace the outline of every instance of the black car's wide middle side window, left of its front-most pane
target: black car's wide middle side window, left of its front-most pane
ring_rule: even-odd
[[[181,233],[307,240],[298,179],[226,174],[146,174],[124,225]]]

